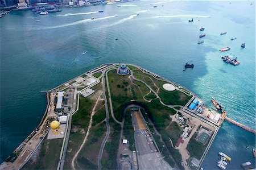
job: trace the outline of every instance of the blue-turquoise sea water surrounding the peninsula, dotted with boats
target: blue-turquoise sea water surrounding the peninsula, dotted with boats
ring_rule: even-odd
[[[211,96],[217,98],[230,118],[255,128],[255,6],[229,2],[152,1],[158,6],[153,8],[151,1],[136,1],[121,7],[63,8],[43,16],[12,11],[1,18],[1,161],[40,122],[46,107],[40,90],[102,63],[141,65],[193,90],[208,106]],[[104,13],[92,13],[99,10]],[[201,26],[206,36],[197,44]],[[233,36],[237,39],[231,41]],[[227,46],[230,51],[218,51]],[[227,53],[241,64],[224,63],[220,57]],[[191,60],[195,68],[183,72]],[[242,169],[245,161],[255,164],[253,147],[254,134],[224,122],[204,168],[217,169],[219,151],[232,157],[228,169]]]

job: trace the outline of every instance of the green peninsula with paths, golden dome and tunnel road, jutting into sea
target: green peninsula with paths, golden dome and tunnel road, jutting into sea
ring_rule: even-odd
[[[1,169],[199,169],[226,117],[134,64],[103,64],[46,92],[42,121]]]

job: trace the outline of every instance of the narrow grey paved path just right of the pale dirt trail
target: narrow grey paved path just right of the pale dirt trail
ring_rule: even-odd
[[[105,72],[103,73],[103,75],[105,74]],[[101,143],[101,148],[100,148],[100,153],[98,154],[98,169],[101,170],[101,157],[104,151],[104,147],[105,144],[109,138],[109,134],[110,134],[110,126],[109,126],[109,108],[108,108],[108,101],[106,99],[106,89],[105,89],[105,76],[102,76],[102,80],[103,80],[103,98],[105,101],[105,110],[106,110],[106,126],[107,126],[107,131],[106,131],[106,136],[103,140],[103,142]]]

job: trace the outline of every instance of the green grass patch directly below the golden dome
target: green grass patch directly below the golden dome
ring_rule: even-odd
[[[63,138],[45,138],[39,147],[39,154],[36,161],[34,162],[32,159],[28,160],[22,169],[56,169],[59,162],[62,142]]]

